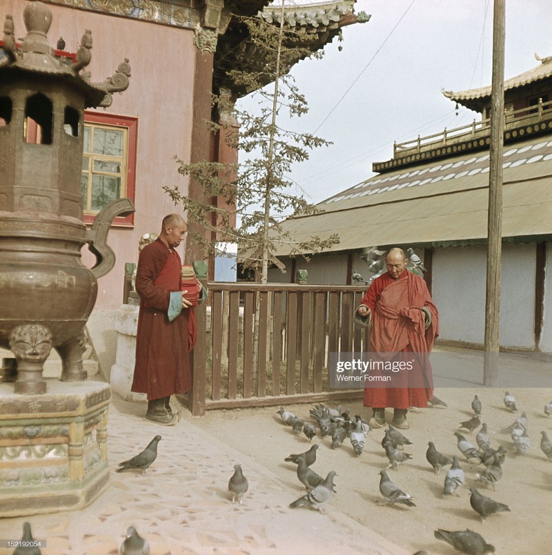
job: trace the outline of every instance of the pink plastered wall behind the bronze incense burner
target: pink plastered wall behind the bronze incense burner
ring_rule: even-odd
[[[27,4],[21,0],[1,1],[1,21],[6,14],[13,14],[16,37],[26,34],[22,14]],[[139,118],[135,225],[110,230],[108,243],[117,261],[98,284],[95,310],[112,311],[121,305],[124,264],[137,261],[139,237],[145,232],[159,232],[163,216],[177,211],[161,186],[179,183],[184,191],[188,186],[177,173],[172,157],[177,154],[187,159],[190,153],[193,32],[63,6],[48,8],[52,10],[50,46],[55,47],[62,35],[65,49],[75,52],[84,29],[92,30],[92,61],[86,68],[92,73],[92,82],[110,77],[124,58],[130,61],[130,86],[122,94],[114,94],[112,105],[106,109]],[[83,263],[94,263],[86,247]]]

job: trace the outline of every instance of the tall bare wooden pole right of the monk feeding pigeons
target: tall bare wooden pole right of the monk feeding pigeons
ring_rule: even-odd
[[[502,153],[504,152],[504,28],[505,0],[495,0],[493,17],[493,81],[491,85],[491,152],[484,385],[496,385],[500,330],[500,266],[502,263]]]

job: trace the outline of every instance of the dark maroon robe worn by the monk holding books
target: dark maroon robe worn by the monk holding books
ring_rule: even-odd
[[[156,239],[141,251],[136,272],[140,296],[136,363],[131,391],[148,400],[191,389],[190,310],[172,322],[167,316],[170,292],[181,290],[179,254]],[[194,319],[195,323],[195,319]]]

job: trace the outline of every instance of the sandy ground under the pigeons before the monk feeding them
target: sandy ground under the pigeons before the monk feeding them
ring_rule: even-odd
[[[481,472],[484,467],[466,461],[457,450],[453,435],[453,432],[460,430],[458,424],[461,421],[473,416],[471,401],[476,393],[483,403],[482,422],[489,427],[493,447],[502,444],[508,450],[503,466],[504,476],[497,483],[496,492],[491,486],[477,481],[475,473]],[[413,445],[404,450],[411,453],[413,459],[398,470],[389,470],[388,475],[413,496],[416,507],[380,504],[378,473],[388,462],[380,445],[383,429],[373,430],[368,435],[364,452],[358,457],[348,439],[332,450],[330,438],[322,439],[318,435],[313,443],[320,445],[319,456],[312,468],[322,476],[330,470],[337,472],[337,494],[331,500],[334,509],[413,553],[419,549],[429,554],[455,553],[452,547],[435,539],[433,531],[437,528],[469,528],[479,532],[487,543],[495,545],[497,554],[550,553],[552,463],[546,461],[540,450],[540,432],[546,430],[552,437],[552,418],[544,415],[544,404],[552,401],[552,389],[517,389],[512,393],[518,407],[518,412],[513,414],[504,407],[504,390],[499,388],[436,390],[435,394],[448,403],[447,408],[408,413],[411,427],[403,433]],[[371,414],[360,401],[344,402],[343,405],[351,408],[351,414],[363,417]],[[311,406],[289,405],[286,410],[308,419]],[[282,487],[288,490],[291,502],[302,494],[302,485],[297,480],[295,465],[284,462],[284,457],[308,450],[311,443],[303,434],[298,436],[285,427],[276,410],[277,407],[210,411],[204,417],[194,418],[193,423],[275,472],[282,479]],[[526,411],[529,418],[532,444],[528,454],[516,455],[510,432],[504,431],[504,428],[513,423],[522,411]],[[391,417],[392,412],[388,410],[388,421]],[[463,433],[477,446],[476,432],[473,436],[466,430]],[[437,450],[451,458],[453,454],[460,455],[460,465],[466,474],[466,480],[460,487],[460,497],[442,495],[446,469],[440,476],[433,473],[426,461],[428,441],[433,441]],[[494,514],[481,523],[469,503],[471,487],[477,487],[480,493],[495,501],[506,503],[511,512]]]

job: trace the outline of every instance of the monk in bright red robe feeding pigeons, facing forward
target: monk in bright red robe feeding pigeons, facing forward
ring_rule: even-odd
[[[385,425],[385,408],[392,407],[393,425],[406,430],[408,407],[427,407],[433,396],[428,357],[439,331],[439,314],[424,279],[406,270],[403,250],[391,249],[385,262],[387,272],[368,287],[355,320],[371,325],[371,352],[408,363],[409,369],[393,376],[391,387],[366,387],[364,406],[372,407],[372,427]]]

